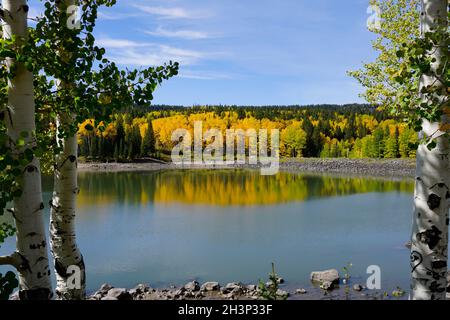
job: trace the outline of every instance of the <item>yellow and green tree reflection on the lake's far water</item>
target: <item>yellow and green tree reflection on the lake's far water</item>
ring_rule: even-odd
[[[412,193],[412,181],[249,170],[81,173],[79,206],[116,204],[271,205],[368,192]]]

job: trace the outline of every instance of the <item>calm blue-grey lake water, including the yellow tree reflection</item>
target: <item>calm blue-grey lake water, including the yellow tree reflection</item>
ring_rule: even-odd
[[[382,290],[409,288],[410,180],[172,170],[86,172],[79,184],[89,291],[105,282],[256,283],[271,262],[292,286],[308,287],[311,271],[351,262],[353,281],[365,284],[366,268],[378,265]],[[51,179],[44,189],[48,203]]]

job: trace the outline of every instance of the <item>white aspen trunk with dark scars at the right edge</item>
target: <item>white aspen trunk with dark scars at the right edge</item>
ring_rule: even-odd
[[[423,0],[421,15],[422,33],[433,26],[447,24],[447,0]],[[424,74],[421,87],[439,85],[442,98],[446,88],[431,74],[436,74],[448,48],[437,46],[430,51],[436,59],[432,73]],[[437,147],[428,150],[422,144],[417,151],[417,169],[414,193],[414,216],[411,247],[411,299],[444,300],[448,260],[448,224],[450,200],[449,138],[440,131],[448,123],[446,116],[441,123],[424,121],[423,134],[436,137]],[[447,129],[444,129],[447,130]]]

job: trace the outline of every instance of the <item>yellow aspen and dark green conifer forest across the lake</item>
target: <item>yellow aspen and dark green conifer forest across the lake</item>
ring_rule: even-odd
[[[87,160],[168,159],[177,128],[279,129],[283,157],[410,158],[417,133],[370,105],[151,106],[124,110],[109,121],[80,124],[79,152]]]

